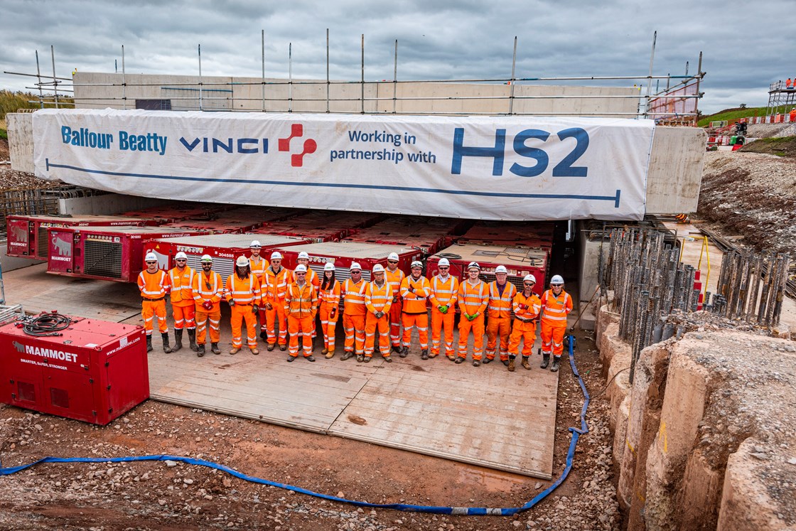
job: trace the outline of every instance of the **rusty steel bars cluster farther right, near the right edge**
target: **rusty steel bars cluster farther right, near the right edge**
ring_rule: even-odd
[[[784,253],[757,255],[732,250],[721,262],[716,294],[705,294],[705,310],[754,325],[779,324],[782,298],[786,295],[790,256]]]

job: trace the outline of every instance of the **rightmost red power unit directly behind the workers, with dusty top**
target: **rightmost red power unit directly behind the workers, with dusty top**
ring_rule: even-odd
[[[495,279],[495,267],[503,265],[509,271],[508,281],[513,283],[517,290],[522,290],[522,279],[529,273],[537,279],[537,284],[533,287],[537,295],[541,296],[546,286],[549,257],[546,249],[455,244],[428,257],[426,273],[429,279],[439,271],[437,264],[443,257],[451,263],[451,275],[457,277],[460,282],[467,279],[467,265],[470,262],[478,262],[481,266],[480,279],[486,283]]]

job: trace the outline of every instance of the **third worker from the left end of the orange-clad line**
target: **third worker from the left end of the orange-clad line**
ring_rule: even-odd
[[[196,303],[197,356],[205,355],[207,329],[210,329],[210,351],[220,354],[218,348],[221,330],[221,298],[224,296],[224,281],[213,271],[213,257],[202,255],[199,259],[201,271],[193,275],[193,302]]]

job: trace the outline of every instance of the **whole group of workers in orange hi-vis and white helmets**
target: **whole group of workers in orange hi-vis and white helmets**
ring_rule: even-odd
[[[392,362],[392,352],[407,357],[412,329],[416,328],[423,360],[443,352],[457,364],[466,361],[467,343],[472,334],[474,366],[490,363],[497,354],[513,372],[522,342],[521,366],[531,369],[529,357],[539,322],[540,366],[546,369],[552,357],[551,370],[559,369],[567,315],[572,311],[572,297],[564,291],[564,279],[560,275],[552,277],[550,289],[540,298],[533,292],[537,282],[533,275],[525,275],[523,289],[517,291],[507,282],[505,266],[497,266],[495,280],[485,283],[479,279],[481,266],[470,262],[467,278],[459,283],[449,273],[451,264],[446,258],[439,260],[438,273],[427,279],[419,261],[412,262],[410,275],[404,275],[398,268],[399,256],[393,252],[388,256],[387,267],[373,266],[370,282],[362,279],[362,268],[356,262],[350,264],[349,279],[340,282],[335,278],[335,266],[331,263],[324,265],[323,276],[319,278],[308,267],[310,256],[306,252],[298,254],[298,265],[290,271],[282,266],[280,252],[272,252],[269,263],[260,256],[261,250],[259,241],[252,241],[250,256],[237,258],[235,271],[226,282],[213,271],[213,257],[209,255],[201,257],[201,271],[193,271],[187,265],[188,256],[178,252],[174,256],[175,267],[162,271],[158,268],[157,256],[147,253],[146,270],[138,279],[147,352],[152,350],[153,320],[157,319],[164,352],[181,349],[183,330],[188,330],[189,348],[202,357],[209,330],[210,351],[220,354],[220,302],[223,299],[232,312],[230,354],[240,352],[243,346],[241,328],[244,323],[248,349],[252,354],[259,353],[259,317],[259,337],[267,343],[269,351],[279,345],[280,350],[288,350],[287,361],[294,361],[300,343],[303,357],[315,361],[313,340],[319,316],[323,336],[321,352],[326,358],[334,357],[336,328],[342,313],[345,342],[340,359],[343,361],[351,357],[359,362],[371,361],[377,334],[379,353],[384,361]],[[174,348],[170,346],[166,326],[166,295],[170,295],[174,318]],[[431,349],[428,306],[431,306]],[[453,328],[457,306],[461,316],[455,348]]]

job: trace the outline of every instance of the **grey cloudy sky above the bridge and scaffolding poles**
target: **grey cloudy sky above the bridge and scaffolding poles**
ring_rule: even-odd
[[[764,106],[771,82],[796,76],[794,0],[327,0],[254,2],[192,0],[2,0],[0,70],[58,76],[127,72],[259,76],[265,31],[266,76],[359,80],[361,34],[365,79],[485,79],[511,75],[518,37],[517,77],[646,76],[657,30],[654,75],[681,75],[699,53],[707,72],[700,90],[705,114],[746,103]],[[618,82],[632,85],[633,82]],[[644,84],[645,81],[640,81]],[[24,90],[31,78],[0,73],[0,88]],[[646,86],[646,85],[645,85]]]

